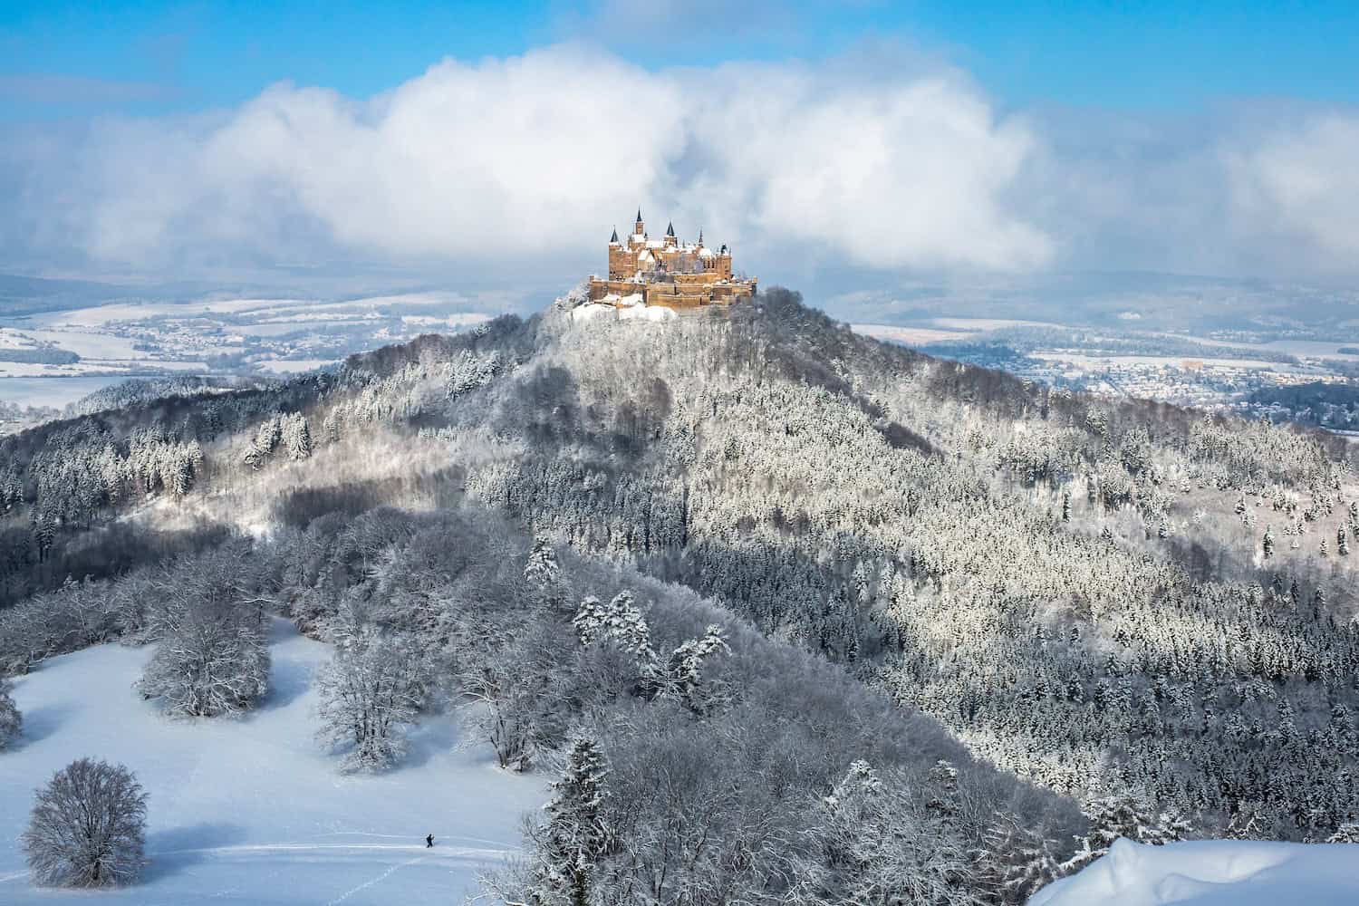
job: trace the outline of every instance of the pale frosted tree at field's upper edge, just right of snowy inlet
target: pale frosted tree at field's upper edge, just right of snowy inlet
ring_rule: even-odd
[[[364,629],[317,674],[317,736],[351,747],[344,770],[383,770],[405,754],[405,724],[419,716],[428,685],[428,664],[413,644]]]

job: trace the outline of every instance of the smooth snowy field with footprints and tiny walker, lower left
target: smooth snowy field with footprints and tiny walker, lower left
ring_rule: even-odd
[[[397,770],[347,777],[313,740],[311,678],[329,648],[276,621],[272,690],[242,720],[162,717],[132,690],[151,649],[103,645],[20,678],[16,748],[0,753],[0,903],[90,903],[37,890],[16,841],[33,789],[82,755],[122,762],[149,793],[144,879],[121,903],[459,903],[519,846],[544,776],[455,751],[448,717],[421,724]],[[424,835],[436,838],[425,849]]]

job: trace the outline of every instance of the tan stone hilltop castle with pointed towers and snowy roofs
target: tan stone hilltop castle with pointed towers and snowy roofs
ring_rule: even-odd
[[[640,209],[631,236],[618,239],[614,230],[609,238],[609,276],[590,277],[590,302],[618,307],[641,303],[700,308],[728,306],[753,295],[754,277],[733,277],[726,246],[708,249],[701,230],[697,243],[680,242],[674,224],[666,228],[665,239],[652,239]]]

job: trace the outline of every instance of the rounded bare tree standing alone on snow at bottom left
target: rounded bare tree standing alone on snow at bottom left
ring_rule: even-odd
[[[141,872],[145,822],[147,795],[132,772],[82,758],[37,792],[20,841],[35,883],[113,887]]]

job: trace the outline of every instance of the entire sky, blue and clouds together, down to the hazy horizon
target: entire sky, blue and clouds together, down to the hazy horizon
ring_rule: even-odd
[[[1354,3],[0,0],[0,269],[1359,277]]]

